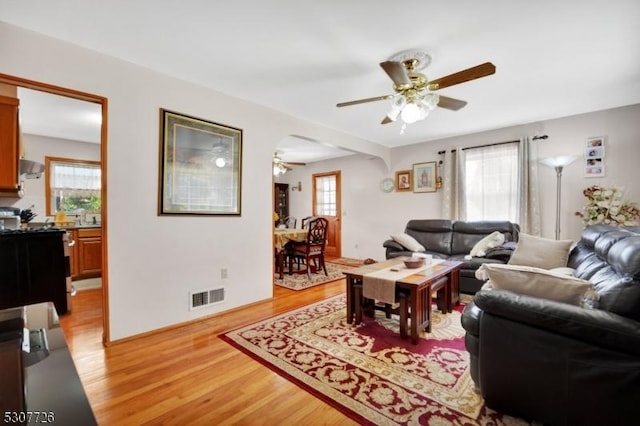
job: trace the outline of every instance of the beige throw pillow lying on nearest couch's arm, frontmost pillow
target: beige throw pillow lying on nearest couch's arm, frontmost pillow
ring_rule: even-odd
[[[597,293],[589,281],[531,266],[485,263],[480,266],[494,289],[585,306]],[[591,307],[591,306],[590,306]]]

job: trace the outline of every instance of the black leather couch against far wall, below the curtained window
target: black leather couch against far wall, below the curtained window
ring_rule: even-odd
[[[407,222],[404,232],[415,238],[426,249],[423,253],[434,258],[464,262],[460,270],[460,291],[474,294],[480,290],[483,282],[476,279],[476,270],[483,263],[506,263],[513,250],[498,248],[487,253],[486,257],[474,257],[465,260],[478,241],[493,233],[501,232],[505,242],[517,242],[520,227],[505,221],[464,222],[442,219],[414,219]],[[398,256],[411,256],[412,252],[389,239],[382,246],[386,249],[387,259]]]

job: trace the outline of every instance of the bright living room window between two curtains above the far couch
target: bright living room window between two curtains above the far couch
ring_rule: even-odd
[[[464,151],[466,220],[518,222],[518,142]]]

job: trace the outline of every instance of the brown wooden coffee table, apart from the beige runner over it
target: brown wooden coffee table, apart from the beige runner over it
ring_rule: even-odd
[[[389,259],[385,262],[365,265],[344,271],[346,275],[347,323],[362,321],[363,277],[387,268],[401,267],[406,257]],[[400,278],[395,283],[397,300],[400,303],[400,335],[410,335],[411,342],[418,343],[419,330],[431,331],[431,305],[433,294],[442,292],[444,312],[451,312],[453,304],[460,303],[458,277],[462,262],[445,261],[435,263],[415,274]],[[407,328],[410,326],[410,333]]]

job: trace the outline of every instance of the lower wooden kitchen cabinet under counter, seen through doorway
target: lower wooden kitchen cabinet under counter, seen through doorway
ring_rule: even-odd
[[[78,228],[69,230],[75,244],[70,250],[71,279],[102,275],[102,229]]]

